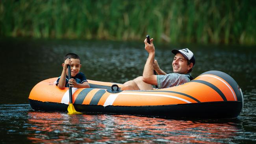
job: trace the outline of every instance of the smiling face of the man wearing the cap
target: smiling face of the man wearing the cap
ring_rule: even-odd
[[[177,53],[173,59],[173,72],[178,74],[187,74],[192,67],[187,65],[187,59],[180,53]]]

